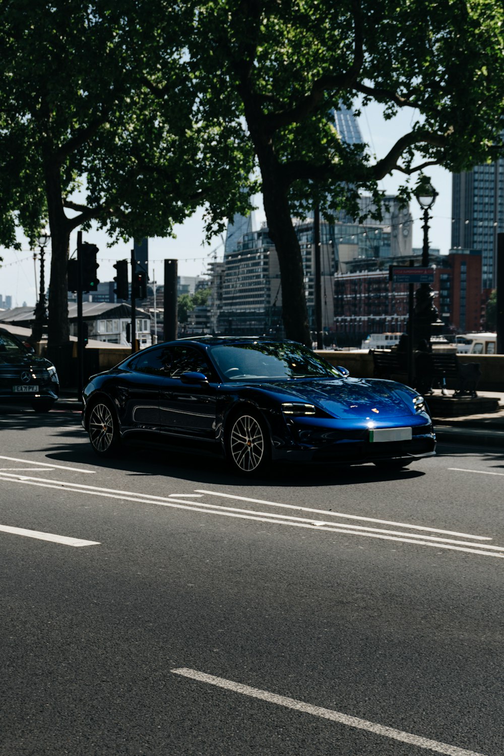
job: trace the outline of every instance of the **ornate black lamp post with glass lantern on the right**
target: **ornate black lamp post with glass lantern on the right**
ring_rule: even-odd
[[[429,210],[434,205],[438,192],[434,189],[427,176],[422,176],[414,192],[419,206],[423,210],[423,246],[422,268],[428,268],[428,222]],[[438,321],[438,310],[434,307],[434,291],[428,283],[422,283],[415,293],[415,340],[418,343],[425,339],[427,343],[431,339],[431,325]]]

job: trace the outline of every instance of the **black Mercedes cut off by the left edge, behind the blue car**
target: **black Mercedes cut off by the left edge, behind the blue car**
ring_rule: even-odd
[[[60,394],[56,368],[32,347],[0,328],[0,402],[29,404],[48,412]]]

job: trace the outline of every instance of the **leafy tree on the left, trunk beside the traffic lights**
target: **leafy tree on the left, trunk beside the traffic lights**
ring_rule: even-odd
[[[193,118],[193,14],[190,0],[2,3],[0,243],[19,248],[20,226],[34,244],[48,220],[50,345],[69,339],[71,231],[94,221],[112,240],[163,236],[196,206],[209,228],[248,207],[234,191],[252,165],[246,145],[233,147],[243,129],[217,139],[218,123]]]

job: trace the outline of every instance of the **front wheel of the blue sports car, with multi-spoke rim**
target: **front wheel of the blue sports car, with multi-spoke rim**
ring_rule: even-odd
[[[266,423],[252,408],[243,409],[230,421],[227,457],[236,472],[253,476],[271,462],[271,442]]]

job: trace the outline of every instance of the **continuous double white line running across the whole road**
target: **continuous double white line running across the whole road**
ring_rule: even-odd
[[[278,515],[273,513],[258,513],[254,510],[239,510],[233,507],[220,507],[216,504],[207,504],[204,502],[192,503],[184,499],[177,500],[173,498],[152,496],[151,494],[135,494],[132,491],[117,491],[109,488],[98,488],[97,486],[83,485],[81,483],[65,483],[62,481],[43,478],[31,478],[29,476],[14,475],[9,473],[4,473],[3,476],[2,474],[0,474],[0,480],[19,482],[26,485],[38,485],[42,488],[55,488],[60,491],[73,491],[76,493],[90,494],[92,496],[101,496],[124,501],[134,501],[137,503],[157,504],[160,507],[172,507],[172,509],[188,510],[191,512],[199,512],[203,514],[215,514],[220,516],[236,517],[237,519],[256,520],[258,522],[269,522],[273,523],[274,525],[289,525],[296,528],[309,528],[312,531],[316,529],[317,531],[329,531],[332,533],[343,533],[347,535],[360,535],[365,538],[381,538],[384,541],[400,541],[405,544],[418,544],[420,546],[432,546],[442,549],[464,551],[467,553],[479,554],[480,556],[496,556],[499,557],[499,559],[504,558],[504,547],[490,546],[487,544],[478,544],[472,542],[468,543],[466,541],[454,541],[453,539],[436,538],[433,536],[419,535],[416,533],[402,534],[398,531],[380,531],[376,528],[357,529],[360,528],[360,526],[345,526],[341,522],[330,522],[326,523],[326,525],[321,525],[319,521],[301,517]],[[294,508],[298,509],[298,507]],[[317,522],[317,525],[315,525],[315,522]],[[428,538],[431,538],[431,540],[426,540]],[[471,536],[468,536],[468,538],[471,538]],[[485,551],[484,549],[488,550]]]

